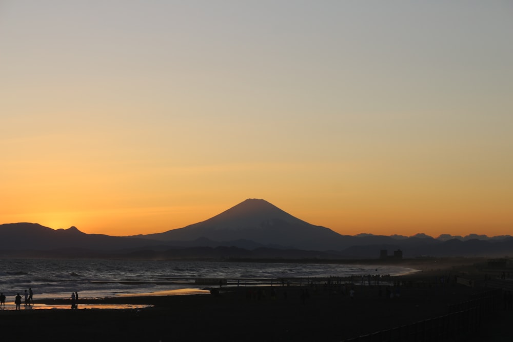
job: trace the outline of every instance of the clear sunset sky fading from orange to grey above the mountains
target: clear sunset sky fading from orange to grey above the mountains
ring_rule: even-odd
[[[263,198],[513,233],[513,2],[0,0],[0,223],[134,235]]]

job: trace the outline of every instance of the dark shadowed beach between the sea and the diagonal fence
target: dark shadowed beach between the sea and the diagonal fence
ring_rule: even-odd
[[[275,296],[270,287],[241,287],[222,289],[219,296],[102,300],[153,305],[139,311],[80,306],[78,310],[0,311],[0,329],[6,338],[11,335],[10,341],[343,341],[444,315],[450,304],[485,291],[453,282],[442,286],[433,281],[433,274],[417,275],[419,282],[401,286],[400,296],[394,298],[386,296],[386,286],[381,287],[380,296],[378,286],[360,284],[354,286],[354,299],[348,295],[349,285],[345,295],[341,287],[275,286]],[[306,289],[308,298],[301,296]],[[512,313],[498,307],[477,332],[460,340],[513,341]]]

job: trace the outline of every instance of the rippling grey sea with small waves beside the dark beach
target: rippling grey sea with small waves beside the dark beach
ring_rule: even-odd
[[[105,259],[0,259],[0,292],[8,300],[32,289],[34,299],[81,298],[204,288],[195,279],[227,279],[244,286],[251,279],[401,275],[415,270],[384,265],[232,263]]]

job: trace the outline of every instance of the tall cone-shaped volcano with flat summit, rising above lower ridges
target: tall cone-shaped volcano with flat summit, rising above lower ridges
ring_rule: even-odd
[[[203,222],[163,233],[137,235],[161,241],[252,240],[266,246],[305,250],[340,249],[343,235],[296,218],[264,199],[244,202]]]

